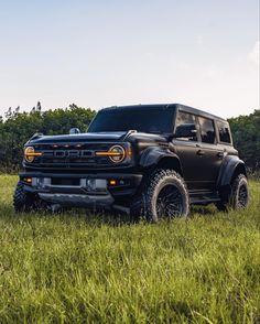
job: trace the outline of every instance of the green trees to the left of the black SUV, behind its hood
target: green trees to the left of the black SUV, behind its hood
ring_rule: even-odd
[[[33,134],[65,134],[74,127],[86,131],[95,115],[95,110],[75,104],[47,111],[42,111],[40,102],[30,112],[9,108],[0,118],[0,170],[15,171],[21,166],[23,145]]]

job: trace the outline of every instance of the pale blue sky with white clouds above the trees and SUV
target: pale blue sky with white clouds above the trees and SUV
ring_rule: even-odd
[[[69,104],[259,109],[258,0],[0,0],[0,115]]]

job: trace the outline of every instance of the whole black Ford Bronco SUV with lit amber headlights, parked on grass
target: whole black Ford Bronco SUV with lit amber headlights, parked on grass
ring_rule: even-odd
[[[156,222],[187,216],[191,204],[225,210],[248,198],[228,122],[171,104],[102,109],[86,133],[35,134],[13,203],[17,212],[95,206]]]

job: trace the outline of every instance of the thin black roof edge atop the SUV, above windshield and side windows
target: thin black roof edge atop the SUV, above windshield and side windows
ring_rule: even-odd
[[[162,109],[167,109],[167,108],[178,108],[180,110],[187,111],[194,115],[203,116],[206,118],[210,119],[218,119],[221,121],[227,121],[225,118],[221,118],[219,116],[206,112],[204,110],[193,108],[189,106],[185,106],[182,104],[149,104],[149,105],[129,105],[129,106],[112,106],[112,107],[107,107],[101,110],[113,110],[113,109],[138,109],[138,108],[144,108],[144,109],[155,109],[155,108],[162,108]]]

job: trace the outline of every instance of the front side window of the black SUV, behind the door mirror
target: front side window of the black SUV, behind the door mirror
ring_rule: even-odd
[[[175,122],[175,138],[183,141],[197,141],[196,117],[178,111]]]

